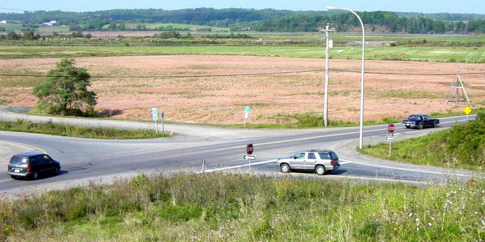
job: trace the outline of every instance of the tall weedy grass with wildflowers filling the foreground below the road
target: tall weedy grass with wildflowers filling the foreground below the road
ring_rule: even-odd
[[[0,239],[478,240],[483,180],[420,188],[252,175],[143,173],[0,202]],[[322,189],[332,187],[332,189]],[[478,194],[478,195],[477,195]]]

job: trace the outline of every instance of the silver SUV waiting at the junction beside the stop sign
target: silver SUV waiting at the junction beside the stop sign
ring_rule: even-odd
[[[332,170],[340,168],[338,156],[331,150],[304,150],[289,157],[280,157],[276,166],[283,173],[292,169],[314,170],[318,175],[329,174]]]

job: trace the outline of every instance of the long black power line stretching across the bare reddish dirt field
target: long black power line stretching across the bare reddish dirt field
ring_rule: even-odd
[[[352,72],[360,73],[354,70],[329,69],[335,72]],[[324,69],[303,70],[303,71],[281,71],[281,72],[261,72],[261,73],[236,73],[236,74],[214,74],[214,75],[139,75],[139,76],[91,76],[91,78],[187,78],[187,77],[223,77],[223,76],[251,76],[251,75],[274,75],[274,74],[292,74],[304,72],[320,72]],[[380,75],[456,75],[456,73],[392,73],[392,72],[365,72],[366,74]],[[477,75],[485,72],[460,73],[460,75]],[[76,75],[33,75],[33,74],[0,74],[0,76],[22,76],[22,77],[83,77]]]

